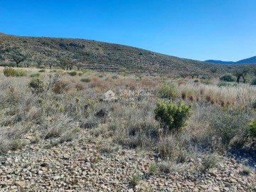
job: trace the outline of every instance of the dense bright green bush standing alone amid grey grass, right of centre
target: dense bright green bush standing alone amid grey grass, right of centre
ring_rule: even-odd
[[[162,127],[174,132],[181,132],[186,125],[186,120],[191,116],[192,105],[184,105],[182,102],[174,104],[173,102],[164,102],[159,100],[154,110],[156,120]]]

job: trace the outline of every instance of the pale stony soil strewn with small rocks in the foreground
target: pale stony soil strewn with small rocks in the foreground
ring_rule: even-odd
[[[73,142],[53,145],[46,140],[1,154],[0,160],[0,191],[256,190],[256,171],[242,174],[243,165],[235,159],[222,157],[218,169],[203,174],[195,171],[201,162],[196,158],[169,174],[150,175],[149,165],[159,161],[154,154],[130,149],[102,154],[84,129]]]

